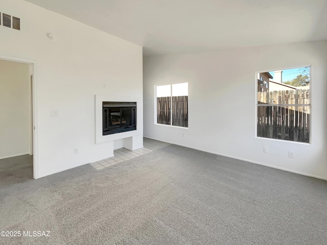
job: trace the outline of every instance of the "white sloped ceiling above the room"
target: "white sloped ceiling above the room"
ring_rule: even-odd
[[[327,0],[26,0],[144,55],[327,40]]]

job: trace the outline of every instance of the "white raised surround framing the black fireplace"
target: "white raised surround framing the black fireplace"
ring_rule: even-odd
[[[108,141],[114,141],[119,139],[124,139],[124,147],[129,150],[136,150],[143,147],[143,142],[140,139],[143,139],[143,130],[140,127],[143,127],[143,124],[140,123],[143,121],[142,115],[142,96],[124,96],[124,95],[103,95],[96,94],[96,143],[104,143]],[[102,135],[102,103],[103,102],[136,102],[136,130]]]

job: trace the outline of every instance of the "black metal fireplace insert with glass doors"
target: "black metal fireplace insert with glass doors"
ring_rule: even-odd
[[[102,102],[103,134],[136,130],[136,102]]]

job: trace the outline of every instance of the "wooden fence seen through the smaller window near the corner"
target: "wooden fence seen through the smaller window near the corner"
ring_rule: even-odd
[[[171,121],[172,116],[172,121]],[[189,126],[189,97],[157,97],[157,123],[180,127]]]

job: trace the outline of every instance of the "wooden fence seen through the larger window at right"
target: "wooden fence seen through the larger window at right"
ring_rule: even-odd
[[[258,92],[258,137],[310,140],[310,90]]]

